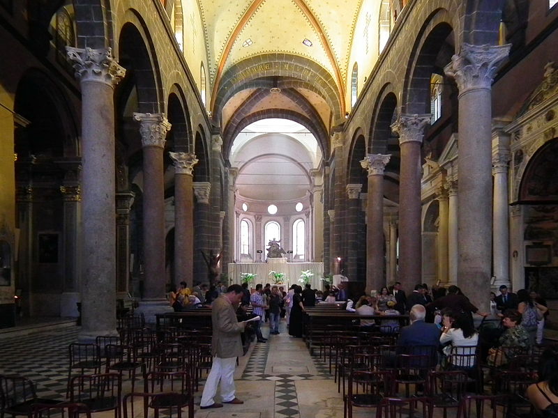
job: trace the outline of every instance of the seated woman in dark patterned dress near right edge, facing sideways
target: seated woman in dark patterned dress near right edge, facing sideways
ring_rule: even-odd
[[[528,350],[531,347],[529,332],[522,327],[521,314],[515,309],[506,309],[502,324],[506,328],[502,336],[498,339],[498,349],[490,348],[488,351],[488,364],[499,366],[508,362],[515,353],[514,348]],[[499,352],[502,358],[499,359]]]

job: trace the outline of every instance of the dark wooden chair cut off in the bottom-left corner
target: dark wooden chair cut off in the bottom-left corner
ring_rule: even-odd
[[[4,415],[31,417],[36,405],[59,405],[63,401],[38,398],[32,380],[16,375],[0,375],[0,418]]]

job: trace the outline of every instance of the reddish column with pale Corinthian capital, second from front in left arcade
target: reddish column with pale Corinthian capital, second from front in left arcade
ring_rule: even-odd
[[[165,114],[135,113],[140,122],[143,150],[143,247],[144,297],[140,311],[149,323],[155,314],[169,308],[165,300],[165,184],[163,150],[170,130]]]

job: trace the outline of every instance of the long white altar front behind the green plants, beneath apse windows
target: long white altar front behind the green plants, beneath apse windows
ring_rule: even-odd
[[[322,277],[324,277],[324,263],[289,263],[287,258],[268,258],[267,262],[262,263],[229,263],[230,284],[241,284],[241,273],[257,274],[254,281],[250,284],[255,287],[261,283],[264,286],[269,283],[273,286],[273,276],[269,272],[285,273],[285,280],[281,286],[285,291],[292,284],[304,285],[299,281],[301,272],[310,270],[314,275],[310,278],[312,289],[322,290]]]

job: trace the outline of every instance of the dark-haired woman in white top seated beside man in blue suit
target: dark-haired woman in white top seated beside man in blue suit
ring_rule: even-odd
[[[443,324],[440,344],[448,344],[443,351],[449,356],[451,369],[469,369],[474,366],[478,332],[469,318],[463,314],[444,312]]]

